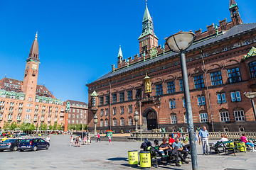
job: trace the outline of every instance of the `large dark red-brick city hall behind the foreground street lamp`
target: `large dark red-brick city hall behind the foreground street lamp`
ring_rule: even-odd
[[[196,30],[186,51],[193,123],[210,131],[255,131],[255,115],[244,93],[256,91],[256,23],[242,23],[238,5],[230,0],[231,21]],[[134,130],[134,112],[142,115],[142,130],[187,130],[179,54],[158,45],[146,6],[139,36],[139,55],[88,86],[88,125],[97,130]],[[155,30],[157,32],[157,30]],[[140,124],[140,120],[138,125]]]

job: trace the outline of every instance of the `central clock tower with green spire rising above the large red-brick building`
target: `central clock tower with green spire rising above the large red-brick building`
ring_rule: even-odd
[[[158,38],[154,34],[153,21],[149,14],[149,9],[147,8],[144,12],[143,20],[142,20],[142,34],[138,38],[139,40],[139,54],[142,55],[149,53],[149,50],[152,47],[158,46]]]

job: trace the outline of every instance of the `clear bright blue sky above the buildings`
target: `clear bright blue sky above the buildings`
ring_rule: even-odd
[[[244,23],[256,22],[255,0],[236,0]],[[149,0],[159,45],[179,30],[206,30],[225,18],[229,0]],[[0,79],[23,80],[25,61],[38,31],[38,84],[56,98],[87,102],[86,83],[139,53],[145,1],[4,1],[0,0]]]

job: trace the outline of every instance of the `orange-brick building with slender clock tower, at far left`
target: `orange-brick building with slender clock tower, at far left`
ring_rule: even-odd
[[[26,60],[23,81],[0,80],[0,127],[4,123],[22,122],[41,125],[64,125],[65,103],[55,98],[46,86],[37,84],[39,49],[37,34]]]

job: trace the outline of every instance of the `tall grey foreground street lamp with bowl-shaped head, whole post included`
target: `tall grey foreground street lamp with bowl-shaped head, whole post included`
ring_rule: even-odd
[[[166,44],[169,45],[170,49],[174,52],[180,52],[180,60],[181,60],[181,73],[183,78],[184,85],[184,96],[186,102],[186,115],[187,115],[187,123],[188,123],[188,134],[189,134],[189,143],[191,146],[191,161],[192,161],[192,169],[198,170],[198,159],[196,152],[196,140],[195,133],[193,128],[193,115],[191,108],[191,98],[189,94],[189,86],[188,86],[188,72],[186,68],[186,56],[184,52],[190,47],[195,40],[196,35],[192,32],[179,32],[174,35],[171,35],[166,40]]]

